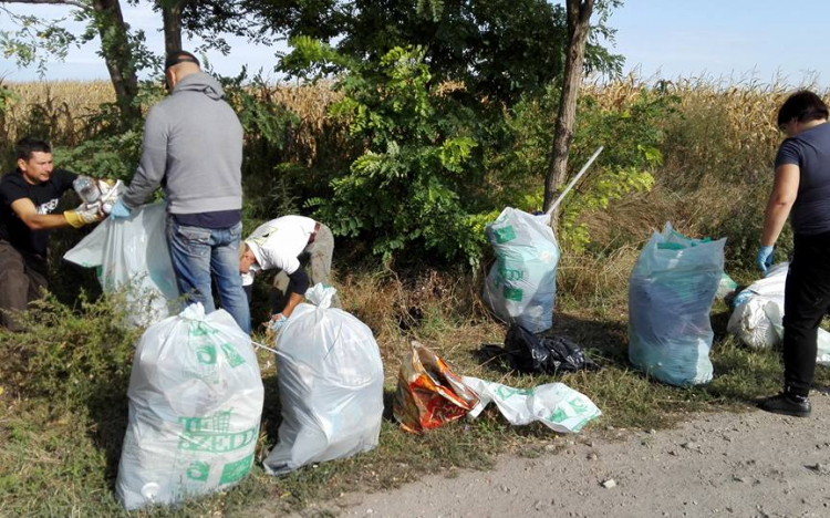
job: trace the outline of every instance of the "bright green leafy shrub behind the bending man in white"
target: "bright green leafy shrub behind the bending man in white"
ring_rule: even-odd
[[[345,96],[331,114],[365,145],[349,173],[331,180],[332,196],[308,206],[335,235],[369,237],[385,260],[422,248],[477,263],[483,239],[460,195],[478,145],[473,113],[436,93],[423,50],[395,48],[378,64],[363,64],[310,39],[294,44],[289,62],[300,68],[349,68],[336,84]]]

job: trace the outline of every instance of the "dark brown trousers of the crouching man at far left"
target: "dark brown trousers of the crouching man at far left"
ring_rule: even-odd
[[[0,240],[0,324],[10,331],[22,331],[14,319],[29,302],[40,299],[49,287],[49,268],[43,257],[21,252]]]

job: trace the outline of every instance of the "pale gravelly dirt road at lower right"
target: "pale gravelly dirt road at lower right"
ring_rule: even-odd
[[[660,432],[600,422],[564,449],[559,439],[536,458],[346,494],[303,516],[830,517],[830,396],[811,400],[809,418],[750,410]]]

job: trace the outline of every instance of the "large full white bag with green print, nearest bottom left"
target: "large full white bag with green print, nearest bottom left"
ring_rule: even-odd
[[[200,303],[152,325],[129,377],[115,493],[126,509],[225,489],[251,468],[264,391],[250,338]]]

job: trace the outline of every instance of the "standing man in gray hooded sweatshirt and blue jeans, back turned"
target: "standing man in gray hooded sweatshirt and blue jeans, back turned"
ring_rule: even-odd
[[[126,218],[162,185],[168,204],[167,241],[179,292],[188,303],[221,307],[245,332],[250,311],[239,277],[242,234],[242,125],[219,82],[185,51],[165,61],[170,95],[153,106],[142,159],[113,218]]]

